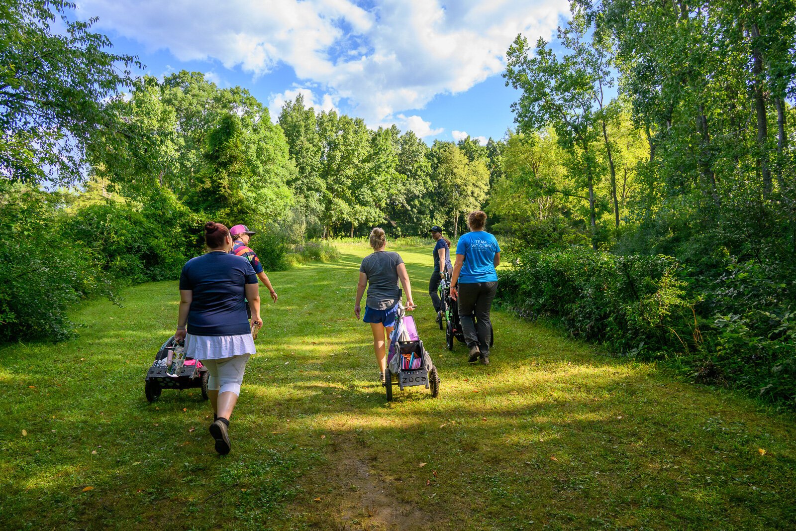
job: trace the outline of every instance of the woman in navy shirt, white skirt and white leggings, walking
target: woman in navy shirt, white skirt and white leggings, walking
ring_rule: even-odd
[[[256,353],[252,326],[262,326],[259,291],[252,264],[228,254],[232,237],[220,223],[205,224],[209,252],[188,260],[180,274],[180,312],[174,338],[185,339],[185,354],[210,373],[208,394],[215,418],[210,435],[216,451],[229,453],[229,418],[240,395],[246,362]],[[252,322],[246,314],[246,302]]]

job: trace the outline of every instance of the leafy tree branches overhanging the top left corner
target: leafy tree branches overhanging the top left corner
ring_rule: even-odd
[[[95,18],[70,21],[69,2],[0,2],[0,174],[61,184],[84,177],[98,131],[123,130],[107,98],[130,83],[136,57],[108,53]],[[64,24],[55,31],[56,17]],[[123,66],[119,72],[117,64]]]

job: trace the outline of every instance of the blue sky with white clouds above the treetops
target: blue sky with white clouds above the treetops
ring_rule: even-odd
[[[240,85],[279,115],[304,95],[369,127],[396,123],[427,143],[500,139],[513,127],[505,50],[523,33],[550,39],[564,0],[84,0],[116,53],[163,76],[204,72]]]

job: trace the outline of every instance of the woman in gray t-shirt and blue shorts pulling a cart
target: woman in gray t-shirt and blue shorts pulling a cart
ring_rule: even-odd
[[[357,302],[353,306],[353,313],[357,319],[360,317],[360,303],[367,286],[368,299],[362,321],[369,322],[373,331],[373,350],[379,364],[379,379],[381,385],[384,385],[384,370],[387,369],[385,353],[389,350],[390,334],[396,322],[400,302],[399,280],[406,291],[406,309],[414,310],[415,303],[412,302],[412,286],[409,284],[404,260],[397,252],[384,251],[387,238],[383,229],[377,227],[370,232],[370,246],[373,252],[365,256],[359,267]]]

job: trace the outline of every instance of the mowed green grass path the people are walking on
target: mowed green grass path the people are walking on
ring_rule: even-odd
[[[412,278],[442,383],[386,402],[353,317],[365,244],[270,275],[279,303],[213,452],[200,392],[144,398],[176,282],[76,312],[80,336],[0,350],[2,529],[794,529],[796,428],[732,392],[494,313],[492,365],[444,346],[431,248]],[[264,290],[261,290],[264,291]],[[88,487],[92,487],[88,489]]]

